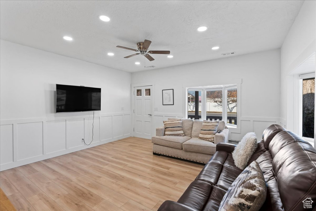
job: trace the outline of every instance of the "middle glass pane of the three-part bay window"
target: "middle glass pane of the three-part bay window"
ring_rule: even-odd
[[[206,91],[206,120],[222,120],[222,90]]]

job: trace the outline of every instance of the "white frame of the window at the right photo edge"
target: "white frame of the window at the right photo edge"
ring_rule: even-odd
[[[298,134],[299,136],[303,137],[303,79],[307,78],[315,78],[315,73],[306,73],[299,75],[299,90],[298,90]],[[314,122],[315,124],[315,122]],[[312,145],[314,145],[314,139],[303,137],[306,141],[310,142]]]

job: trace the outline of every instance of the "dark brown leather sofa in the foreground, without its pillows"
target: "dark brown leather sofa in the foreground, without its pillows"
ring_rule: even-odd
[[[178,202],[165,201],[158,211],[218,210],[230,185],[242,172],[232,158],[235,145],[221,143]],[[316,209],[316,150],[295,133],[271,125],[248,164],[256,160],[264,173],[267,197],[261,210]],[[311,198],[312,208],[303,200]],[[309,200],[309,199],[308,199]]]

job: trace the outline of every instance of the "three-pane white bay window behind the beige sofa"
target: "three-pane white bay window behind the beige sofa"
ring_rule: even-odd
[[[236,127],[237,85],[188,88],[187,117],[210,121],[224,120],[228,125]]]

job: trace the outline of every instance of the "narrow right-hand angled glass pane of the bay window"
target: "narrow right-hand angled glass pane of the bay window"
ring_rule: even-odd
[[[237,88],[227,90],[227,123],[237,125]]]

